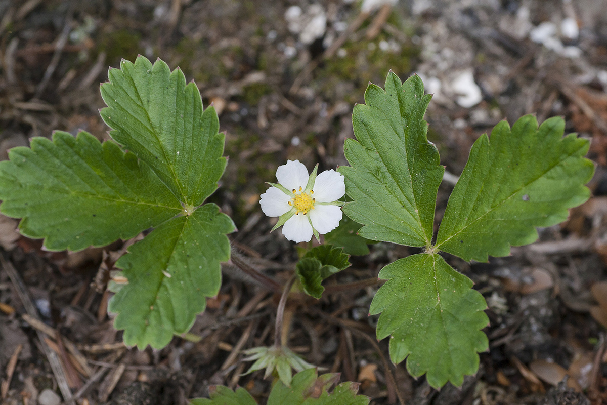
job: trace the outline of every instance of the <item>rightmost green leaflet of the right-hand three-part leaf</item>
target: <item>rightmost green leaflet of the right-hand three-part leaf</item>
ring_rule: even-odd
[[[482,135],[447,204],[436,248],[465,260],[507,256],[510,246],[537,239],[535,226],[567,219],[568,208],[588,200],[584,185],[594,165],[584,155],[589,141],[569,134],[555,117],[538,128],[532,115],[512,130],[501,121]]]

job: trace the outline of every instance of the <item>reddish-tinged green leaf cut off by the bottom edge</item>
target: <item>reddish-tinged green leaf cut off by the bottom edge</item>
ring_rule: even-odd
[[[267,405],[368,405],[370,399],[356,395],[358,383],[342,383],[328,392],[339,381],[339,374],[318,376],[316,369],[308,369],[293,376],[291,387],[277,381],[272,387]],[[211,399],[197,398],[192,405],[253,405],[253,396],[237,389],[236,393],[226,387],[211,391]]]

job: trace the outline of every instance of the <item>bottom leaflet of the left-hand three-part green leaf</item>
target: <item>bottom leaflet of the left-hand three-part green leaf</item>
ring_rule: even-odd
[[[129,280],[109,302],[124,343],[160,348],[185,333],[221,284],[234,223],[209,203],[164,222],[132,245],[116,263]]]

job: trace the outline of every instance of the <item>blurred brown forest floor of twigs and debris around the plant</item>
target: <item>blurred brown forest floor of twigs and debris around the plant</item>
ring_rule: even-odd
[[[503,118],[565,117],[568,132],[592,140],[592,199],[510,257],[448,258],[475,281],[491,320],[490,352],[461,389],[437,392],[404,364],[385,363],[387,342],[372,344],[376,319],[367,318],[379,285],[294,303],[290,346],[361,383],[373,404],[396,403],[397,391],[407,404],[607,403],[607,1],[2,0],[0,32],[1,158],[54,129],[106,139],[98,86],[120,58],[180,66],[226,131],[230,160],[211,199],[236,222],[236,247],[279,281],[297,254],[279,232],[268,233],[263,182],[287,159],[320,170],[347,164],[352,107],[368,81],[383,84],[390,69],[402,80],[422,77],[434,94],[428,137],[453,175],[473,141]],[[437,223],[451,189],[439,189]],[[95,278],[123,242],[48,253],[19,237],[16,223],[0,217],[2,403],[57,405],[67,390],[79,404],[185,404],[211,384],[244,386],[265,403],[270,382],[241,376],[248,365],[240,350],[270,344],[276,296],[229,272],[191,338],[163,350],[126,349]],[[378,243],[331,282],[375,277],[415,252]],[[33,306],[19,296],[25,290]],[[52,358],[66,376],[53,371]],[[558,387],[566,374],[569,387]]]

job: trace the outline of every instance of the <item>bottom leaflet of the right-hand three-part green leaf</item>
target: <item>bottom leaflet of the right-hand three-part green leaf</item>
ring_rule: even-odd
[[[381,313],[378,339],[392,335],[392,361],[407,358],[409,373],[427,373],[437,389],[447,381],[461,386],[464,375],[478,370],[476,353],[488,347],[481,332],[489,324],[483,312],[487,305],[472,290],[472,281],[443,257],[426,253],[396,260],[378,277],[388,281],[373,298],[370,315]]]

